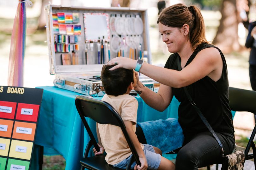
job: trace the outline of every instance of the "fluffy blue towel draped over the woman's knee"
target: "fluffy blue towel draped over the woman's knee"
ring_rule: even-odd
[[[182,146],[184,135],[177,119],[156,120],[137,123],[143,130],[146,141],[162,150],[162,154]]]

